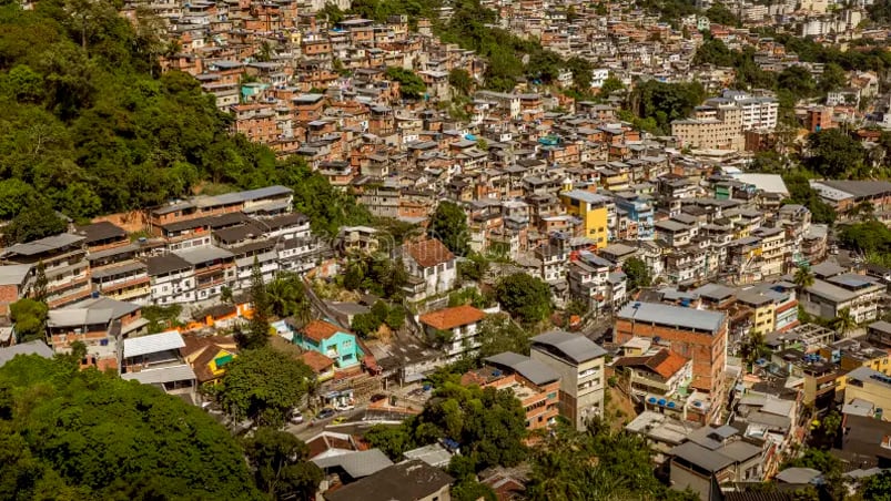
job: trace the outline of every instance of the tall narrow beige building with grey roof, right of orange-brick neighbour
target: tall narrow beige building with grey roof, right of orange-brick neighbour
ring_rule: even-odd
[[[606,350],[590,339],[551,330],[531,339],[530,357],[560,377],[560,415],[584,430],[587,420],[601,416]]]

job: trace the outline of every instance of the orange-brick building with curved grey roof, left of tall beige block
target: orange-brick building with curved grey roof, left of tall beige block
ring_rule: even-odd
[[[479,369],[462,377],[462,385],[509,389],[526,411],[526,429],[554,425],[559,415],[560,375],[541,361],[513,351],[485,358]]]

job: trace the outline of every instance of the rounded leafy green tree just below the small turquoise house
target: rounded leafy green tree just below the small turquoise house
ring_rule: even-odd
[[[272,348],[243,351],[226,365],[217,399],[234,419],[281,426],[306,393],[312,370]]]

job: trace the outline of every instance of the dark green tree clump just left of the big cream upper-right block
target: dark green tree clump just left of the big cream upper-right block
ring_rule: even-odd
[[[667,132],[671,130],[672,121],[689,116],[705,96],[705,89],[698,82],[665,83],[648,80],[635,88],[631,102],[636,104],[638,116],[654,117],[657,126]]]

